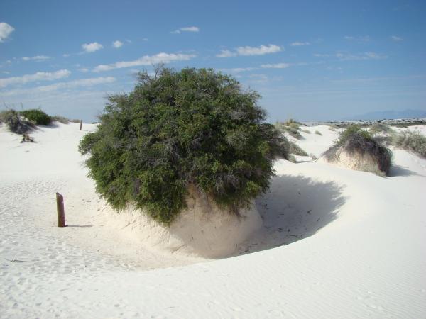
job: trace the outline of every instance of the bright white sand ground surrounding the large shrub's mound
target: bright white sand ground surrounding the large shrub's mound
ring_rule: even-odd
[[[309,129],[299,145],[319,155],[335,133]],[[84,133],[58,124],[20,144],[0,128],[1,318],[425,318],[425,159],[394,150],[386,178],[278,161],[263,228],[207,261],[111,227],[122,217],[86,177]],[[55,227],[55,191],[70,227]]]

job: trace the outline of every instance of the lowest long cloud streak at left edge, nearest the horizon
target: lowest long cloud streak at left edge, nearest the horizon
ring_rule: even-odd
[[[115,77],[92,77],[89,79],[78,79],[70,82],[59,82],[55,84],[37,86],[31,89],[16,89],[0,92],[0,96],[15,96],[24,94],[40,94],[42,92],[58,91],[59,89],[76,89],[78,87],[95,86],[115,82]]]

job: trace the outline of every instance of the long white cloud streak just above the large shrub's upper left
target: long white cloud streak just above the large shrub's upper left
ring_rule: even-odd
[[[158,53],[156,55],[144,55],[143,57],[138,58],[133,61],[121,61],[115,62],[111,65],[98,65],[93,69],[93,72],[103,72],[109,71],[111,69],[121,69],[124,67],[138,67],[141,65],[153,65],[157,63],[169,63],[173,61],[185,61],[190,60],[196,55],[185,55],[185,54],[175,54],[175,53]]]

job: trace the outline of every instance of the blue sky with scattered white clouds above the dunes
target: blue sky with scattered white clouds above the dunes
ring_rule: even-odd
[[[0,1],[0,110],[96,121],[139,71],[212,67],[268,121],[426,110],[426,1]]]

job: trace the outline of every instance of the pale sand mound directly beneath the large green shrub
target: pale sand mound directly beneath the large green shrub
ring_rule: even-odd
[[[134,208],[119,213],[109,208],[106,213],[111,216],[109,227],[121,229],[121,233],[136,245],[207,258],[229,256],[262,225],[254,202],[251,208],[240,211],[240,216],[236,216],[196,191],[190,191],[187,209],[170,228]]]

